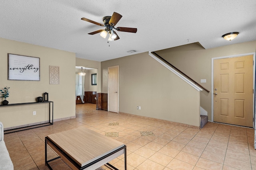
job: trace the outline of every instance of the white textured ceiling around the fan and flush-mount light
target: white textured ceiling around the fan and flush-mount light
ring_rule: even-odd
[[[113,12],[123,17],[119,40],[103,39],[103,23]],[[205,49],[256,40],[256,0],[0,0],[0,37],[106,61],[146,51],[199,42]],[[221,36],[238,31],[226,41]],[[110,47],[109,47],[110,45]],[[135,50],[135,53],[127,51]]]

